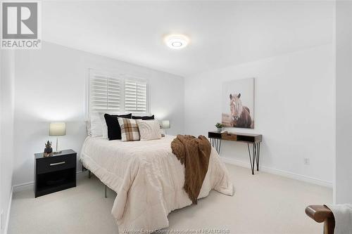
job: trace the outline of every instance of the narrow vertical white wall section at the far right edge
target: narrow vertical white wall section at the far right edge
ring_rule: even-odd
[[[352,203],[352,2],[336,2],[336,160],[334,202]]]

